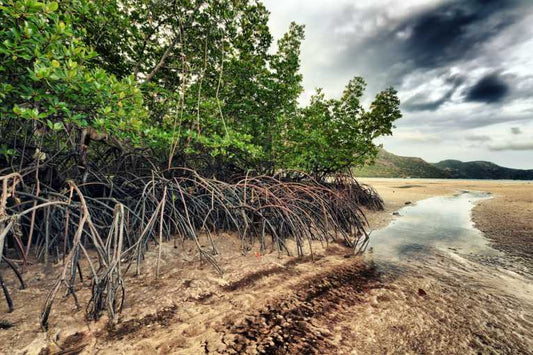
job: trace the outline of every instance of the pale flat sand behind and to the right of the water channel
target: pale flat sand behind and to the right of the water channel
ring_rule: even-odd
[[[378,178],[361,181],[380,193],[386,201],[387,212],[401,208],[408,201],[461,190],[490,192],[493,198],[480,202],[473,210],[476,227],[485,233],[494,248],[533,270],[533,182]],[[371,213],[369,218],[374,228],[379,228],[391,216]]]

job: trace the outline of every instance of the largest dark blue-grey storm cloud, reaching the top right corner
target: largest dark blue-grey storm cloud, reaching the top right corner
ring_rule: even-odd
[[[413,11],[402,18],[390,14],[367,16],[357,14],[350,8],[331,19],[335,28],[354,26],[357,28],[366,18],[384,17],[387,25],[366,33],[347,32],[340,34],[343,49],[338,55],[340,61],[332,63],[331,70],[342,75],[362,74],[371,77],[369,87],[379,90],[393,85],[405,87],[407,79],[415,72],[441,71],[449,75],[449,68],[460,67],[467,61],[478,68],[492,71],[499,68],[487,67],[490,55],[484,46],[513,24],[523,19],[523,8],[533,8],[531,0],[456,0],[445,1],[431,7]],[[375,10],[374,10],[375,11]],[[349,22],[347,19],[352,19]],[[366,20],[371,23],[370,20]],[[376,20],[374,20],[376,21]],[[344,37],[343,37],[344,36]],[[333,66],[335,64],[335,66]],[[353,75],[353,74],[352,74]],[[438,109],[451,95],[440,100],[425,102],[418,98],[407,107],[414,110]]]

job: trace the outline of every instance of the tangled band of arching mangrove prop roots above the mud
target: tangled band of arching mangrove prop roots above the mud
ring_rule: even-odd
[[[87,318],[98,319],[107,312],[116,322],[126,294],[124,275],[131,266],[140,274],[146,252],[154,246],[156,277],[163,243],[170,240],[193,241],[200,260],[222,274],[213,239],[222,232],[237,234],[243,253],[257,243],[261,250],[271,245],[290,254],[287,241],[293,240],[297,255],[309,252],[313,257],[312,241],[341,239],[357,254],[369,241],[362,206],[383,208],[379,195],[350,175],[323,182],[301,173],[248,174],[220,181],[188,168],[152,170],[144,176],[89,170],[84,183],[67,181],[55,188],[39,178],[19,184],[38,174],[29,170],[24,176],[0,177],[0,256],[4,246],[11,245],[18,248],[23,265],[29,257],[62,262],[43,305],[44,328],[62,288],[80,306],[75,290],[82,282],[82,265],[91,282]],[[13,263],[0,260],[8,263],[24,287]]]

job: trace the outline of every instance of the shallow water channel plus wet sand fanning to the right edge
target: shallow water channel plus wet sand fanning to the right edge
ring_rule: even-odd
[[[518,297],[533,306],[530,272],[517,269],[509,256],[492,248],[472,222],[475,203],[489,198],[489,193],[462,191],[400,209],[394,221],[371,234],[371,260],[383,271],[411,266],[404,271],[412,273],[414,267],[421,277],[431,271],[437,280],[451,277],[476,285],[478,291]]]

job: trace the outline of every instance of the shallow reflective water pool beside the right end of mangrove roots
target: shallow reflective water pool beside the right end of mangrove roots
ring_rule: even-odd
[[[471,220],[475,202],[488,198],[488,193],[463,191],[406,206],[389,226],[371,234],[369,250],[388,260],[420,258],[437,250],[495,256],[499,252]]]

